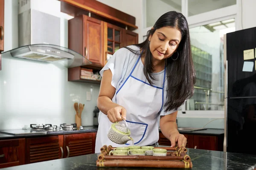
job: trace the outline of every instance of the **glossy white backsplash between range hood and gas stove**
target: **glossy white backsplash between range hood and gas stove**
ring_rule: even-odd
[[[68,82],[67,68],[61,65],[5,57],[0,71],[0,129],[74,123],[74,102],[85,104],[82,125],[93,125],[98,94],[99,85]]]

